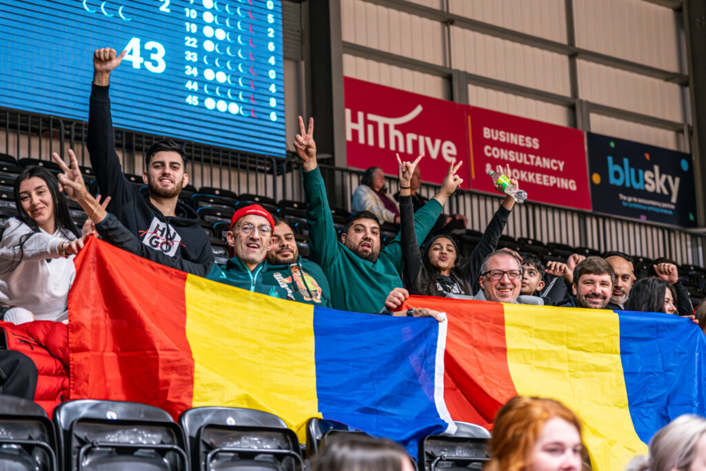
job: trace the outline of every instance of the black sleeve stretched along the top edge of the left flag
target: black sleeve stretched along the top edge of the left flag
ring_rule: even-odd
[[[205,277],[208,275],[213,265],[213,263],[194,263],[184,260],[184,258],[179,256],[170,257],[162,254],[162,252],[158,250],[150,249],[140,242],[140,239],[138,239],[135,234],[128,231],[118,218],[112,214],[108,214],[108,217],[95,225],[95,229],[104,241],[109,242],[119,249],[123,249],[142,258],[147,258],[148,260],[160,263],[164,266],[185,271],[186,273]]]

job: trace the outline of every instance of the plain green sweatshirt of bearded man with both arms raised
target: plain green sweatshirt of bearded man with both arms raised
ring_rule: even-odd
[[[309,222],[309,258],[321,266],[328,278],[331,305],[343,311],[379,313],[390,291],[402,286],[400,235],[380,251],[375,263],[360,258],[338,242],[318,167],[302,174]],[[441,215],[441,209],[441,204],[432,198],[414,213],[418,241],[424,241]]]

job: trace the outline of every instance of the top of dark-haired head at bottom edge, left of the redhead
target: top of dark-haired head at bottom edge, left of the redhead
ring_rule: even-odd
[[[311,461],[311,471],[414,471],[405,450],[389,439],[334,434]]]

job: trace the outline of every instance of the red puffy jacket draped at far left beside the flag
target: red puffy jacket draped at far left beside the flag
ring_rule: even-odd
[[[8,350],[30,357],[37,366],[35,403],[52,417],[54,407],[68,400],[68,329],[66,324],[34,321],[16,326],[0,321]],[[0,341],[3,339],[0,339]]]

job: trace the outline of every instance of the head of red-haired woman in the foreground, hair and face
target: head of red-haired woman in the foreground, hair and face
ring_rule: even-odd
[[[484,471],[580,471],[581,422],[553,399],[516,396],[498,410]]]

